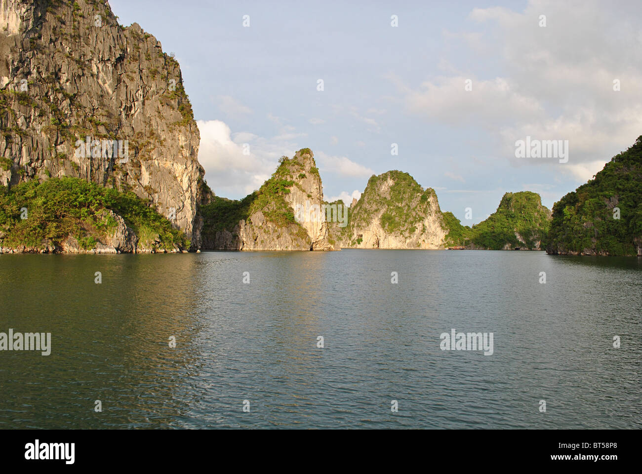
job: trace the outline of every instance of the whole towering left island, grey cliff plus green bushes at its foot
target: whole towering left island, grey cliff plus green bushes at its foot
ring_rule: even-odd
[[[200,247],[209,199],[178,62],[105,2],[0,2],[3,252]]]

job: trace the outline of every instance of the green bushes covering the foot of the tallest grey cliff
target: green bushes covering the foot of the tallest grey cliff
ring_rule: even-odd
[[[26,218],[22,219],[26,208]],[[121,216],[139,237],[139,246],[171,250],[189,247],[185,234],[134,193],[121,193],[73,177],[0,187],[0,245],[44,249],[68,236],[89,250],[116,229],[108,211]]]

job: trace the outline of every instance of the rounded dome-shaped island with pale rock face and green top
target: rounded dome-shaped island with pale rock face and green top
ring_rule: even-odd
[[[401,171],[372,176],[350,209],[340,245],[359,249],[442,249],[449,229],[434,189]],[[334,232],[333,232],[334,234]]]

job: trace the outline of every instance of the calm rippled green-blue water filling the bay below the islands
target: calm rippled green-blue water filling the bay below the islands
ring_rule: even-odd
[[[638,258],[1,255],[0,332],[51,355],[0,351],[0,428],[641,428],[641,297]]]

